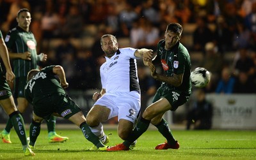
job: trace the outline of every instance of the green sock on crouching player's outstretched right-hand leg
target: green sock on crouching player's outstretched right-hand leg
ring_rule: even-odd
[[[104,147],[104,144],[99,140],[99,137],[95,136],[90,127],[86,124],[86,122],[83,122],[80,124],[80,128],[83,132],[84,137],[92,142],[94,145],[96,145],[97,148]]]

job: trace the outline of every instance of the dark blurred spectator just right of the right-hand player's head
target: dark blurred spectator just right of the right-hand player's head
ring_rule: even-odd
[[[193,32],[193,50],[204,52],[205,44],[212,40],[213,34],[207,26],[205,17],[196,18],[196,29]]]

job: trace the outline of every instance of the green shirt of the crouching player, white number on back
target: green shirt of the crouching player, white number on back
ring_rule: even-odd
[[[52,73],[54,66],[47,66],[39,71],[25,87],[25,98],[29,103],[35,105],[36,102],[48,98],[52,94],[65,94],[60,82]]]

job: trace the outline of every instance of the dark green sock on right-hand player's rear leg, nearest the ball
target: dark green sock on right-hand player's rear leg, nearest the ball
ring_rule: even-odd
[[[176,143],[176,140],[172,135],[172,131],[165,119],[162,119],[161,122],[156,125],[156,127],[158,131],[166,138],[168,144],[172,145]]]

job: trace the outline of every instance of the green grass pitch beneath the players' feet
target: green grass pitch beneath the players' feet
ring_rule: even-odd
[[[88,142],[81,130],[56,129],[62,136],[70,139],[65,143],[48,143],[47,131],[41,130],[34,157],[24,157],[19,139],[14,130],[11,133],[12,144],[0,143],[0,159],[256,159],[255,131],[181,131],[174,130],[173,135],[180,143],[178,150],[154,150],[164,138],[158,131],[148,130],[139,139],[134,150],[120,152],[89,151]],[[116,130],[106,130],[109,145],[122,142]],[[27,131],[28,134],[28,131]]]

